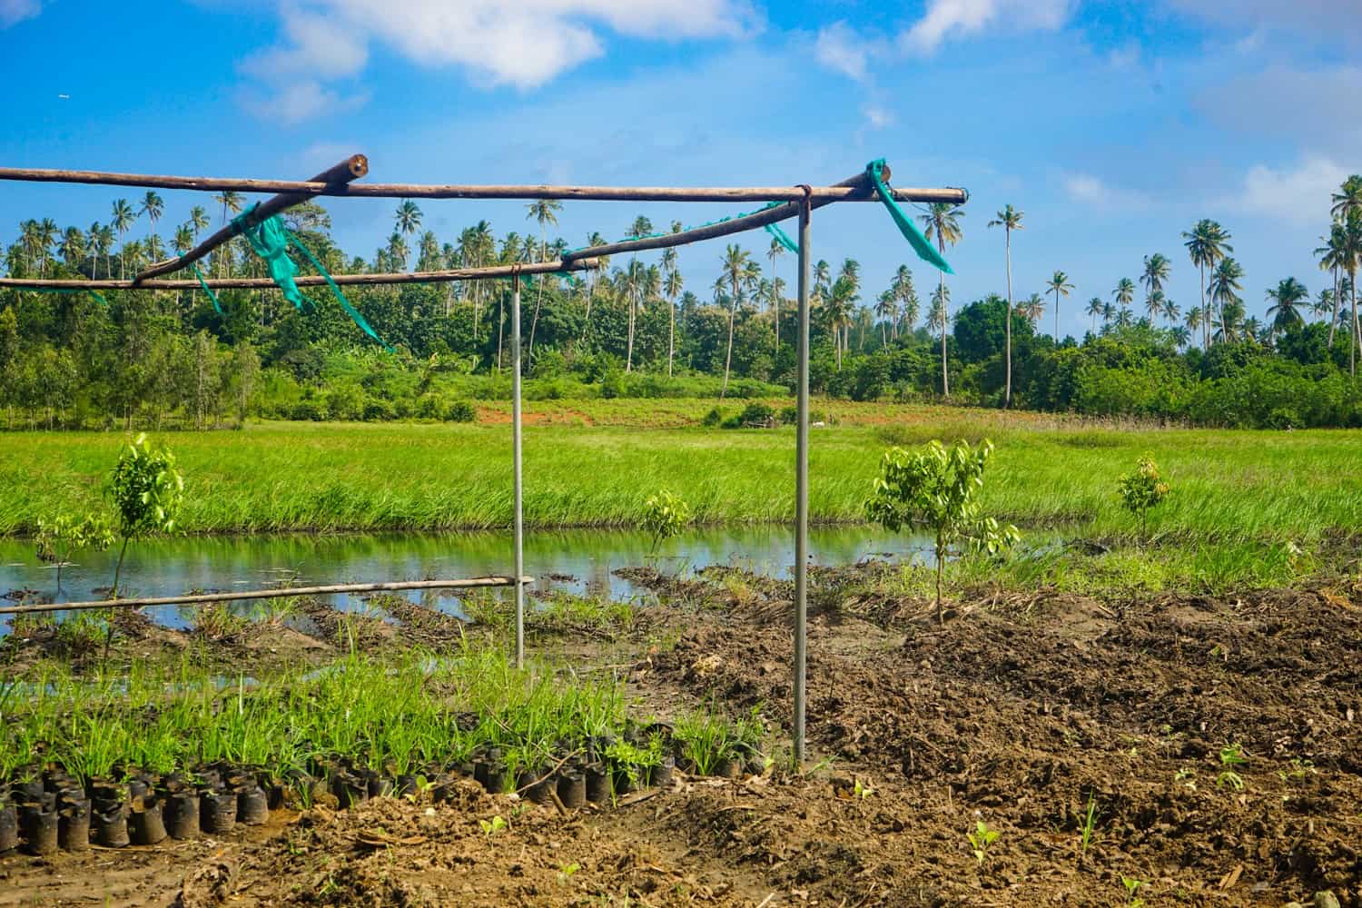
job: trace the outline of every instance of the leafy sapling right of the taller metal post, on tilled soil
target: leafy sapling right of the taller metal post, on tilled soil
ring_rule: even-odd
[[[975,496],[983,489],[983,468],[990,456],[993,442],[987,440],[978,448],[967,441],[949,448],[932,441],[917,452],[889,448],[865,504],[869,519],[885,530],[923,527],[936,535],[937,622],[945,621],[941,579],[951,549],[963,546],[992,555],[1020,539],[1016,527],[979,515]]]

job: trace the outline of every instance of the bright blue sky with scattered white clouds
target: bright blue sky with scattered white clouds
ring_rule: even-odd
[[[1002,290],[985,223],[1011,203],[1015,295],[1062,268],[1061,331],[1080,332],[1083,302],[1151,252],[1194,304],[1179,233],[1203,216],[1233,233],[1250,313],[1287,275],[1327,286],[1312,249],[1328,192],[1362,170],[1359,50],[1357,0],[0,0],[0,163],[305,178],[364,151],[394,182],[768,185],[884,157],[899,185],[971,192],[956,304]],[[4,184],[0,242],[136,193]],[[196,200],[166,193],[161,233]],[[347,250],[391,231],[392,203],[328,207]],[[422,208],[441,238],[531,229],[519,203]],[[637,214],[730,212],[569,203],[560,221],[582,245]],[[934,283],[878,207],[813,229],[817,257],[862,263],[866,304],[903,261],[923,297]],[[681,250],[701,297],[722,246]]]

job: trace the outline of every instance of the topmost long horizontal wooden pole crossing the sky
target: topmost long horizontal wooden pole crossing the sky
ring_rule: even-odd
[[[245,180],[230,177],[172,177],[102,170],[49,170],[0,167],[0,180],[27,182],[79,182],[148,189],[192,189],[200,192],[278,192],[305,196],[350,199],[560,199],[579,201],[797,201],[798,187],[563,187],[563,185],[464,185],[417,182],[368,182],[327,185],[319,180]],[[970,193],[952,187],[903,187],[893,189],[899,201],[953,201],[963,204]],[[847,187],[816,187],[814,201],[869,201]]]

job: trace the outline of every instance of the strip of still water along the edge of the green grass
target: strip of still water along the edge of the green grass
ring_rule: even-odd
[[[631,599],[644,591],[612,572],[646,564],[651,540],[639,532],[577,530],[527,532],[526,573],[539,589]],[[925,538],[888,534],[878,527],[820,527],[809,532],[812,564],[851,564],[869,555],[921,558]],[[379,583],[455,579],[512,573],[511,534],[383,534],[181,536],[133,543],[123,566],[124,596],[174,596],[189,591],[264,589],[287,585]],[[61,569],[34,558],[33,545],[0,539],[0,595],[30,589],[56,602],[104,599],[113,579],[117,551],[80,553],[79,564]],[[658,566],[676,572],[733,565],[775,577],[789,577],[794,565],[794,534],[789,527],[696,530],[670,539],[658,553]],[[413,602],[422,591],[409,591]],[[432,602],[458,614],[454,596]],[[331,596],[338,609],[358,604]],[[242,606],[249,609],[249,606]],[[157,621],[181,626],[174,606],[151,610]],[[0,623],[0,634],[8,623]]]

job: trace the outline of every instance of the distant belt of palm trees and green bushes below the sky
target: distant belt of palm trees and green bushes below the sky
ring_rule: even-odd
[[[1197,272],[1199,298],[1165,291],[1174,260],[1144,256],[1139,278],[1111,289],[1075,287],[1056,271],[1035,293],[1013,293],[1011,260],[1024,256],[1024,212],[1007,206],[987,222],[1004,227],[998,286],[1005,290],[952,310],[951,287],[932,282],[919,299],[900,267],[887,287],[864,286],[859,264],[819,261],[813,287],[812,387],[834,399],[953,403],[1139,415],[1229,427],[1362,426],[1357,272],[1362,268],[1362,177],[1329,200],[1314,250],[1324,286],[1295,276],[1244,298],[1245,267],[1229,229],[1200,221],[1182,234]],[[221,216],[240,211],[234,193],[217,197]],[[349,256],[330,237],[316,204],[286,215],[336,272],[445,268],[552,259],[580,242],[550,238],[558,203],[528,206],[526,236],[497,238],[479,222],[458,237],[422,230],[421,210],[403,203],[390,241],[369,259]],[[189,248],[215,219],[191,208],[183,225],[157,233],[163,201],[113,203],[109,223],[19,225],[5,249],[12,276],[104,278],[135,272]],[[922,215],[933,241],[962,241],[962,208]],[[139,229],[144,225],[144,231]],[[670,225],[677,229],[680,225]],[[631,234],[658,230],[639,218]],[[1002,237],[998,237],[1002,240]],[[211,275],[263,274],[234,241],[207,264]],[[678,256],[607,261],[599,274],[539,278],[523,294],[527,395],[537,399],[774,398],[794,385],[795,306],[780,276],[783,248],[753,253],[730,245],[715,280],[686,287]],[[1181,265],[1179,265],[1181,267]],[[305,265],[305,270],[311,265]],[[689,270],[693,274],[693,270]],[[793,279],[793,275],[791,275]],[[1023,289],[1028,291],[1031,289]],[[1092,294],[1086,304],[1075,295]],[[366,342],[324,293],[313,310],[294,310],[278,291],[226,290],[222,313],[199,290],[38,294],[0,290],[0,426],[214,427],[252,417],[297,421],[467,421],[471,402],[509,396],[505,282],[353,289],[351,301],[398,348]],[[870,299],[873,298],[873,302]],[[1081,305],[1081,340],[1056,338],[1047,306]],[[1058,314],[1056,310],[1053,314]],[[1056,319],[1054,325],[1058,325]],[[947,393],[948,392],[948,393]]]

